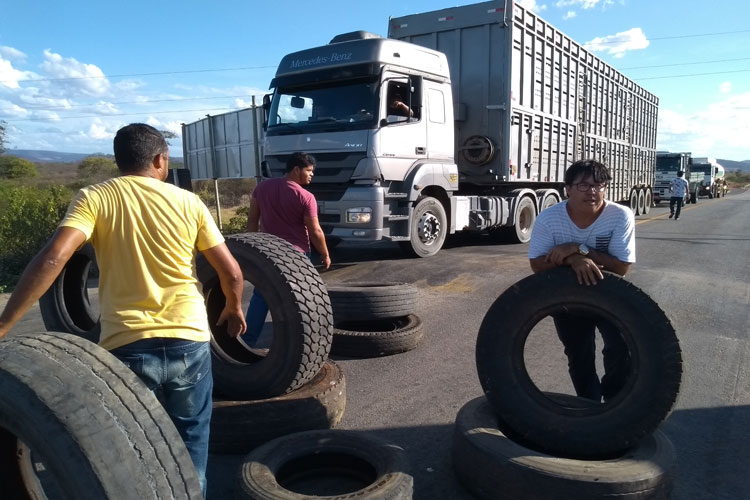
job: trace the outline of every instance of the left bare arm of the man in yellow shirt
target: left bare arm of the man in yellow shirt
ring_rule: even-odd
[[[73,253],[86,242],[86,235],[72,227],[59,227],[32,259],[0,315],[3,338],[54,283]]]

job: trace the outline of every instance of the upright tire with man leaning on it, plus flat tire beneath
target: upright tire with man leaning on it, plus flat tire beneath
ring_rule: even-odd
[[[579,285],[569,268],[529,276],[506,290],[485,315],[476,345],[485,396],[459,411],[453,438],[454,470],[477,497],[669,496],[675,453],[657,428],[679,392],[679,343],[670,320],[648,295],[605,274],[596,287]],[[529,333],[563,311],[609,321],[628,346],[629,376],[604,403],[542,392],[526,370]]]

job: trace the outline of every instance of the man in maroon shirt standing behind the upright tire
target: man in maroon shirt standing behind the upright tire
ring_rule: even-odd
[[[304,189],[310,184],[315,170],[315,158],[305,153],[294,153],[286,162],[286,175],[267,179],[253,191],[247,217],[247,230],[261,231],[283,238],[300,252],[310,257],[310,244],[320,253],[326,269],[331,267],[326,240],[318,223],[318,204]],[[257,289],[247,309],[247,333],[242,340],[254,345],[260,336],[268,314],[268,304]]]

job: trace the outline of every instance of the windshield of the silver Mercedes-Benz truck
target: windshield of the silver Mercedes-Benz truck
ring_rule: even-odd
[[[266,135],[374,128],[377,92],[377,80],[279,88],[271,103]]]

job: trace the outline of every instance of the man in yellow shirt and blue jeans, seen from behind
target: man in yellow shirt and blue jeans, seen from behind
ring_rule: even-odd
[[[155,128],[117,132],[121,176],[81,189],[65,218],[29,263],[0,315],[0,338],[90,241],[99,265],[99,345],[128,365],[167,413],[193,459],[205,494],[211,418],[210,331],[194,271],[196,251],[216,269],[226,306],[218,322],[245,331],[242,271],[201,200],[164,180],[169,153]],[[138,480],[138,478],[134,478]]]

